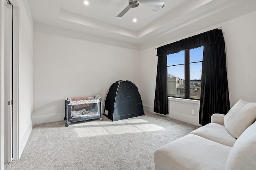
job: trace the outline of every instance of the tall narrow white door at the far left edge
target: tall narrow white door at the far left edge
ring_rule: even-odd
[[[9,1],[4,2],[4,163],[13,160],[12,153],[12,10]]]

